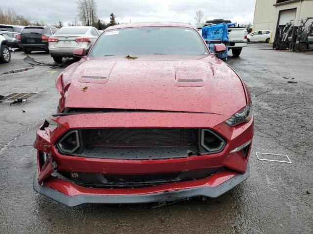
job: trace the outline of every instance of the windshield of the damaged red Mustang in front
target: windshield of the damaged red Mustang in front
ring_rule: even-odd
[[[208,55],[196,30],[184,27],[134,27],[104,32],[89,57],[112,55]]]

